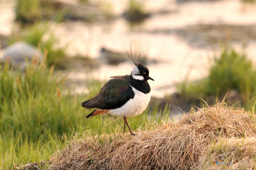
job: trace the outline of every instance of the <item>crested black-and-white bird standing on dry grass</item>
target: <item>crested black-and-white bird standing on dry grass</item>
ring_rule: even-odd
[[[100,88],[98,94],[92,99],[84,101],[82,107],[95,108],[92,113],[86,116],[86,119],[105,113],[112,116],[123,116],[123,134],[127,125],[131,135],[135,135],[127,122],[127,117],[140,115],[146,110],[151,91],[148,80],[155,81],[149,76],[148,68],[140,63],[142,52],[141,50],[138,57],[134,52],[133,57],[132,52],[130,52],[130,56],[126,50],[128,57],[134,64],[131,74],[110,77],[111,79]]]

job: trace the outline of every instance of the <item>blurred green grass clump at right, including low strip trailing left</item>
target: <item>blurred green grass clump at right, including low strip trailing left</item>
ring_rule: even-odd
[[[195,82],[184,81],[178,85],[181,94],[192,98],[222,98],[230,90],[236,90],[242,96],[242,104],[256,97],[256,69],[244,53],[226,48],[213,60],[208,77]]]

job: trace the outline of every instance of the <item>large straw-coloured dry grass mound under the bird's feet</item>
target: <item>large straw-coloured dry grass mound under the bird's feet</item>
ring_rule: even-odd
[[[49,169],[190,169],[220,138],[255,137],[255,115],[219,103],[136,133],[75,138]]]

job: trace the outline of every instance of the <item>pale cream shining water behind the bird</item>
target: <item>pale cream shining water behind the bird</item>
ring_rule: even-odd
[[[127,7],[127,1],[107,1],[112,4],[113,13],[120,16]],[[115,3],[114,3],[115,2]],[[155,81],[149,81],[152,96],[163,97],[173,93],[175,83],[183,81],[186,76],[190,80],[203,78],[211,66],[211,59],[218,53],[220,44],[212,46],[193,46],[191,39],[182,35],[163,30],[189,28],[190,25],[224,24],[224,25],[256,25],[256,5],[243,3],[239,0],[223,1],[189,1],[176,3],[174,0],[149,0],[144,2],[145,10],[152,17],[140,25],[130,25],[124,18],[118,17],[113,22],[83,23],[65,22],[53,24],[55,34],[60,39],[60,46],[67,46],[69,56],[77,53],[98,58],[101,47],[113,51],[124,52],[130,49],[144,54],[149,58],[159,60],[158,64],[147,65],[150,76]],[[11,33],[14,19],[14,3],[0,1],[0,34]],[[188,29],[189,31],[189,29]],[[223,30],[225,31],[225,30]],[[211,35],[216,32],[211,32]],[[219,34],[217,32],[217,34]],[[207,35],[206,35],[207,36]],[[199,39],[199,37],[198,37]],[[200,40],[200,39],[199,39]],[[194,37],[197,41],[197,35]],[[232,42],[238,49],[244,42]],[[256,39],[246,40],[245,51],[248,57],[256,62]],[[75,93],[87,92],[83,82],[88,77],[108,80],[113,75],[130,74],[132,62],[121,63],[117,66],[101,65],[88,73],[88,69],[69,70],[68,79]]]

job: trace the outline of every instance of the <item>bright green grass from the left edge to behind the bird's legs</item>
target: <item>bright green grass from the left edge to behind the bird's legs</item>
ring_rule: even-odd
[[[87,82],[88,95],[71,95],[64,89],[65,78],[54,75],[53,67],[48,68],[45,62],[31,64],[25,73],[12,70],[8,64],[0,67],[0,169],[47,161],[76,132],[122,133],[122,117],[106,114],[85,119],[92,109],[82,108],[81,103],[99,92],[99,81]],[[150,129],[168,120],[169,108],[159,116],[158,110],[129,117],[131,128]]]

